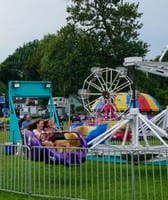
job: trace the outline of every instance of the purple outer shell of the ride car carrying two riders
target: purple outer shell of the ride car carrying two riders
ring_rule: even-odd
[[[75,129],[71,132],[76,132],[81,140],[80,149],[75,149],[75,152],[56,152],[49,147],[43,147],[41,142],[35,137],[34,133],[25,129],[25,144],[30,147],[30,158],[34,161],[45,161],[46,163],[64,164],[66,166],[80,165],[86,160],[87,142],[82,135]],[[83,149],[82,149],[83,147]]]

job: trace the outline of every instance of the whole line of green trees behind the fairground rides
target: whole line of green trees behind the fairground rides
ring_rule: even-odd
[[[139,3],[120,0],[71,0],[65,27],[25,43],[0,64],[1,93],[7,92],[10,80],[50,80],[53,95],[77,94],[92,67],[116,68],[125,57],[144,57],[149,45],[140,39],[143,24],[138,8]],[[168,102],[167,82],[136,73],[137,89],[155,96],[163,106]]]

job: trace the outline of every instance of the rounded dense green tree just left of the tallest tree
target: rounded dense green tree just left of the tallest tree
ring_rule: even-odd
[[[90,68],[99,63],[97,43],[85,31],[68,25],[41,41],[40,74],[52,80],[55,95],[76,94]]]

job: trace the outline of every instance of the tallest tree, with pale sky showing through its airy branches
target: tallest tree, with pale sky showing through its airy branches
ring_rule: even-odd
[[[119,0],[72,0],[68,22],[81,27],[99,43],[100,65],[118,66],[124,57],[144,56],[148,45],[139,39],[139,4]]]

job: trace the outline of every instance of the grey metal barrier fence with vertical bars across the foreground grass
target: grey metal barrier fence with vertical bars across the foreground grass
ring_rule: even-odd
[[[1,144],[0,190],[58,199],[168,199],[168,149],[59,148],[65,156],[54,161],[44,153],[46,148]],[[86,160],[66,166],[63,150],[85,151]]]

